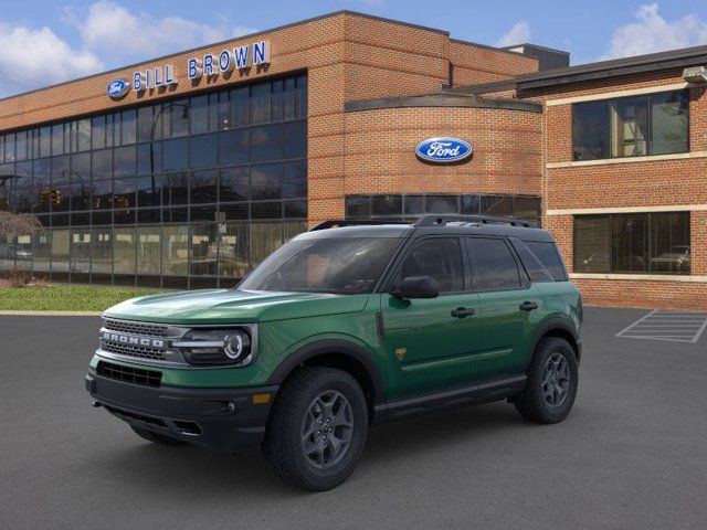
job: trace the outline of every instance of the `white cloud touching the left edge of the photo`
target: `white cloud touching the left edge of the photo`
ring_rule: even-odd
[[[0,22],[0,97],[104,68],[94,53],[72,49],[49,28]]]

